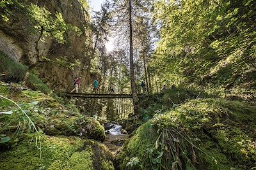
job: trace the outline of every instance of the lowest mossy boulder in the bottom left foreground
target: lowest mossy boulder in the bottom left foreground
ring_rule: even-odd
[[[43,134],[37,146],[35,138],[20,139],[10,150],[0,153],[1,169],[114,169],[111,153],[89,139]]]

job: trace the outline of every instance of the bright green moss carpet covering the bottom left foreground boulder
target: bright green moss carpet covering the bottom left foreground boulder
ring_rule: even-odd
[[[42,159],[35,141],[23,138],[18,145],[1,153],[1,169],[47,169],[54,162],[64,162],[83,146],[79,138],[42,136]]]

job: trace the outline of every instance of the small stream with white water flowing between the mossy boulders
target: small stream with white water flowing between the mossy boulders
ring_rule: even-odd
[[[109,148],[109,150],[116,155],[119,148],[124,144],[124,142],[129,138],[129,134],[122,134],[121,130],[123,129],[121,125],[107,123],[104,124],[106,139],[104,144]]]

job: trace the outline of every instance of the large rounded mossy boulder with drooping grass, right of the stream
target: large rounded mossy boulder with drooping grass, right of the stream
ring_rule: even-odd
[[[116,155],[119,169],[251,169],[254,103],[196,99],[156,115]]]

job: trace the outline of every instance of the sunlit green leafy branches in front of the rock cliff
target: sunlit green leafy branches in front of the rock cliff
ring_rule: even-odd
[[[84,2],[85,3],[85,2]],[[12,14],[10,6],[15,6],[17,9],[24,13],[24,17],[28,17],[35,33],[41,32],[45,36],[50,36],[58,43],[65,43],[64,34],[68,31],[74,31],[79,36],[82,34],[81,30],[73,25],[66,24],[62,14],[56,12],[52,17],[50,11],[45,7],[40,7],[37,4],[28,3],[26,1],[19,3],[17,0],[4,0],[0,3],[0,8],[3,8],[2,18],[8,21],[8,17]]]

